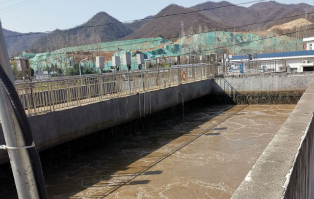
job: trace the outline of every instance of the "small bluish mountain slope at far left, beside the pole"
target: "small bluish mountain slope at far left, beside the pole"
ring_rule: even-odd
[[[43,36],[42,33],[39,33],[39,34],[31,34],[31,35],[26,35],[26,36],[11,37],[11,36],[21,35],[21,34],[25,34],[25,33],[13,32],[13,31],[6,30],[6,29],[3,29],[3,34],[4,34],[4,37],[6,37],[5,43],[7,46],[9,56],[17,55],[20,52],[25,51],[27,49],[30,50],[29,47],[30,47],[32,41],[35,41],[38,38]]]

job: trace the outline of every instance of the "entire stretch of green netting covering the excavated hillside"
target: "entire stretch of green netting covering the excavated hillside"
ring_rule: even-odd
[[[282,36],[261,40],[262,38],[252,33],[217,31],[185,36],[177,43],[172,43],[170,40],[162,38],[134,39],[63,48],[52,52],[36,54],[33,58],[29,58],[31,58],[31,67],[35,71],[44,71],[52,65],[64,71],[69,67],[73,67],[75,62],[79,62],[78,60],[86,57],[89,60],[82,63],[82,65],[95,69],[95,56],[107,53],[104,55],[106,60],[111,59],[110,57],[113,55],[120,56],[122,64],[122,54],[128,51],[132,53],[131,68],[136,69],[136,52],[138,51],[144,53],[145,59],[154,59],[157,57],[178,56],[195,52],[202,52],[203,54],[209,52],[244,54],[247,52],[292,51],[296,50],[296,47],[303,49],[302,40],[296,41],[292,37]],[[243,42],[248,43],[241,44]],[[97,53],[100,54],[97,55]],[[26,56],[30,53],[23,54],[23,56]],[[105,69],[109,70],[110,68],[111,61],[106,61]],[[122,69],[126,69],[126,66],[122,66]]]

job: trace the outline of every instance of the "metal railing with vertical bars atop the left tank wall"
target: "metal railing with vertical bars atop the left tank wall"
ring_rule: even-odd
[[[16,82],[16,89],[26,114],[35,115],[209,79],[216,74],[216,70],[217,64],[212,64]]]

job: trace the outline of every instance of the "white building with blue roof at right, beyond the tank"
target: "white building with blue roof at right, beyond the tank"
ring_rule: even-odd
[[[312,42],[314,45],[314,37]],[[308,46],[310,47],[310,45]],[[314,49],[292,52],[265,53],[257,55],[257,60],[278,60],[278,59],[285,59],[288,68],[290,68],[291,72],[314,71]],[[233,55],[231,61],[247,61],[247,60],[248,55]]]

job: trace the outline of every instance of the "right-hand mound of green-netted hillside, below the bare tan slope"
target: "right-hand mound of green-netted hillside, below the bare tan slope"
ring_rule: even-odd
[[[229,52],[230,54],[280,52],[295,50],[296,44],[299,46],[299,49],[303,49],[302,40],[296,41],[295,38],[288,36],[262,39],[265,37],[260,37],[252,33],[241,34],[218,31],[183,37],[179,40],[179,44],[185,47],[185,50],[183,50],[185,53],[204,51],[208,49],[209,52],[213,53]]]

